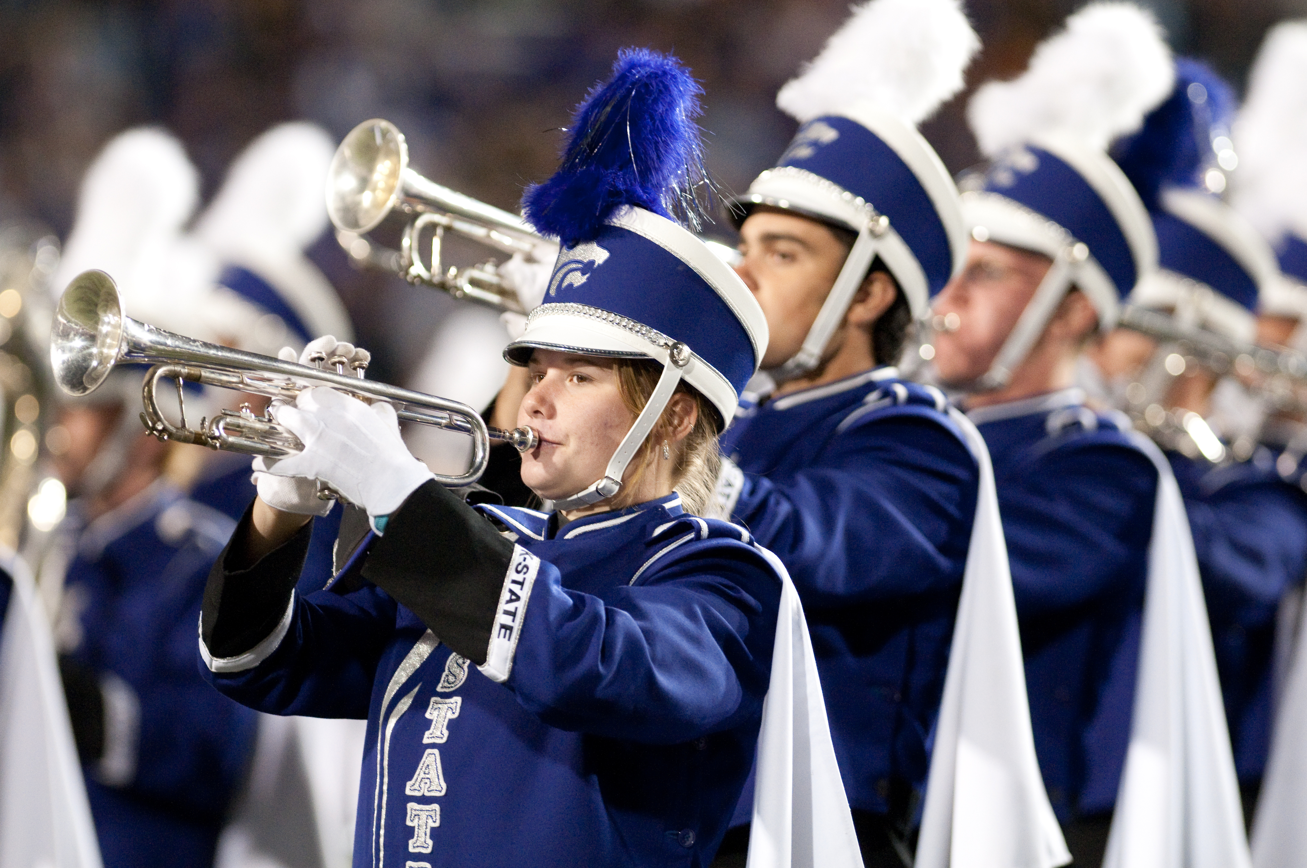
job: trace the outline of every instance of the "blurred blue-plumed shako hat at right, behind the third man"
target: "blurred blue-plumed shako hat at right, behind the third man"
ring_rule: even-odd
[[[1112,153],[1149,209],[1158,243],[1159,268],[1129,301],[1251,342],[1261,290],[1278,268],[1266,242],[1218,199],[1225,173],[1238,165],[1235,106],[1216,72],[1180,58],[1171,94]]]

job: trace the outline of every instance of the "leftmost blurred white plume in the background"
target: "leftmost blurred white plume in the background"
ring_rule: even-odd
[[[165,261],[200,196],[200,178],[182,142],[162,129],[129,129],[86,170],[77,216],[51,288],[99,268],[124,297],[153,293]]]

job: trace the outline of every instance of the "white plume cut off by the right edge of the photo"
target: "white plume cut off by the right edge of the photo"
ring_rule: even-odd
[[[1234,205],[1270,241],[1307,238],[1307,21],[1266,34],[1234,140]]]

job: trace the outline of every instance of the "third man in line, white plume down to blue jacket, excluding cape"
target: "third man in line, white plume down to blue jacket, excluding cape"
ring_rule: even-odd
[[[962,195],[971,250],[935,303],[951,327],[936,336],[937,373],[972,392],[993,458],[1035,746],[1076,864],[1102,861],[1125,760],[1158,477],[1072,386],[1086,342],[1157,259],[1148,213],[1102,148],[1171,81],[1151,18],[1099,4],[1025,76],[982,89],[972,128],[997,159]]]

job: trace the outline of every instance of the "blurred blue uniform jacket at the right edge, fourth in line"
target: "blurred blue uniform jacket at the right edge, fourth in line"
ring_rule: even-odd
[[[1255,783],[1270,752],[1276,614],[1307,574],[1307,494],[1300,471],[1285,481],[1265,447],[1226,467],[1167,459],[1193,529],[1235,769]]]

